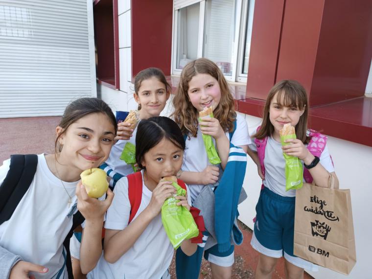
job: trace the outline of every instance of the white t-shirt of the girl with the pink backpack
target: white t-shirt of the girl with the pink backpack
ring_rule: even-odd
[[[249,147],[253,151],[257,151],[255,144],[251,144]],[[319,163],[321,163],[328,172],[334,171],[327,145],[320,156]],[[263,164],[265,165],[265,180],[263,181],[265,187],[268,187],[280,196],[296,196],[296,190],[285,191],[285,159],[283,150],[281,149],[281,143],[274,140],[273,137],[267,138]]]

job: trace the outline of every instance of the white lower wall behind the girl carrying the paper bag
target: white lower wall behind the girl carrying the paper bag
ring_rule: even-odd
[[[254,133],[260,124],[260,118],[245,115],[250,133]],[[342,128],[342,127],[340,127]],[[361,135],[362,136],[362,135]],[[357,263],[349,277],[320,267],[319,272],[308,272],[317,279],[372,278],[372,147],[328,137],[329,152],[335,164],[335,171],[340,181],[340,188],[351,190],[351,205],[354,221]],[[256,215],[255,207],[261,188],[256,164],[249,160],[244,189],[248,199],[239,206],[240,220],[253,229],[252,219]]]

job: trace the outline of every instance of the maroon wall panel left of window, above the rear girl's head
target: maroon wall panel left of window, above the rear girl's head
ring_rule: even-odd
[[[132,75],[157,67],[170,75],[173,0],[132,0]]]

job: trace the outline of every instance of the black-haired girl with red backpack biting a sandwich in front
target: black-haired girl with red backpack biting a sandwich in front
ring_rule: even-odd
[[[177,124],[163,116],[142,120],[136,137],[136,161],[140,172],[121,178],[106,216],[104,255],[88,278],[170,278],[168,267],[174,249],[160,211],[176,193],[163,177],[175,176],[182,165],[185,140]],[[136,179],[134,179],[136,177]],[[133,187],[140,187],[140,204],[131,202]],[[190,209],[189,198],[176,196],[177,205]],[[135,211],[135,215],[132,215]],[[196,250],[189,239],[181,244],[187,255]]]

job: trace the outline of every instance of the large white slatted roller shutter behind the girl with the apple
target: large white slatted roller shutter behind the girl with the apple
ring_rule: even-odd
[[[0,2],[0,118],[60,116],[71,100],[96,96],[92,5]]]

